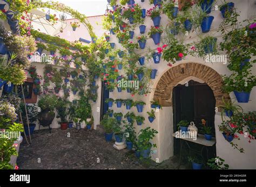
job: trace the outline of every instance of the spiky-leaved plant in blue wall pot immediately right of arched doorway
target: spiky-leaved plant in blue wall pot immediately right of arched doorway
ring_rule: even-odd
[[[224,112],[226,113],[226,116],[227,117],[231,117],[233,116],[234,113],[238,113],[238,112],[242,112],[242,107],[237,105],[237,104],[234,104],[235,102],[232,102],[232,100],[227,100],[225,102],[225,99],[224,97],[222,98],[223,100],[223,105],[219,105],[217,107],[221,107],[221,109],[223,109],[221,111],[221,119],[223,120],[223,114]]]

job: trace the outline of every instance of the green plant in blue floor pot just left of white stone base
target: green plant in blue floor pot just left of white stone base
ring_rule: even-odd
[[[114,118],[105,118],[100,121],[100,125],[103,125],[105,131],[105,140],[110,142],[113,136],[113,127],[117,125],[117,120]]]

